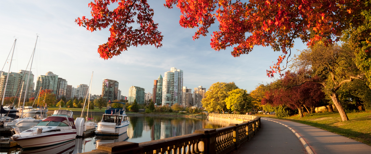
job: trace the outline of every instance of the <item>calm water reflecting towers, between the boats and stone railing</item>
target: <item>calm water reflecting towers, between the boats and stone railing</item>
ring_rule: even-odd
[[[50,116],[52,113],[47,113],[46,116]],[[74,119],[80,117],[81,112],[73,112]],[[42,117],[40,114],[29,114],[29,117]],[[86,113],[85,113],[86,116]],[[83,116],[83,117],[85,117]],[[102,118],[102,113],[90,114],[89,117],[99,122]],[[69,143],[59,144],[53,147],[47,147],[37,150],[23,150],[22,148],[11,149],[9,151],[1,150],[1,154],[15,153],[15,154],[77,154],[82,152],[88,152],[96,149],[100,144],[113,143],[119,141],[129,141],[135,143],[141,143],[145,141],[158,140],[162,138],[181,136],[185,134],[191,134],[196,129],[202,128],[220,128],[224,127],[220,124],[207,120],[206,118],[194,118],[194,117],[167,117],[167,116],[128,116],[130,124],[127,133],[122,134],[119,137],[106,137],[100,138],[98,136],[92,136],[88,138],[76,138],[76,140]]]

